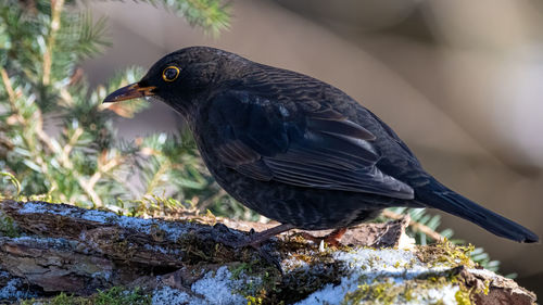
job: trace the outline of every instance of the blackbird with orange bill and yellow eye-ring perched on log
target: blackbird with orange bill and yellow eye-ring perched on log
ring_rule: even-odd
[[[192,47],[156,62],[104,102],[152,97],[180,113],[217,182],[282,225],[345,228],[387,207],[432,207],[518,242],[539,237],[441,185],[407,145],[354,99],[310,76],[223,50]]]

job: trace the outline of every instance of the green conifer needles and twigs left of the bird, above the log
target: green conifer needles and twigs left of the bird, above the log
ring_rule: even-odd
[[[164,209],[233,202],[224,199],[187,132],[117,140],[112,118],[134,116],[149,103],[102,104],[108,92],[137,81],[141,68],[127,68],[90,88],[78,67],[110,46],[105,18],[78,11],[72,1],[0,1],[2,198],[134,214],[156,214],[151,201]],[[206,30],[216,33],[228,24],[220,1],[163,4]],[[167,204],[156,200],[164,195],[171,198]]]

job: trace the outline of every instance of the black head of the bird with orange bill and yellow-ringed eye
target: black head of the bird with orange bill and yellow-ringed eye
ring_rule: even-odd
[[[151,97],[187,115],[199,98],[237,74],[230,68],[235,65],[227,64],[231,61],[243,59],[207,47],[181,49],[159,60],[141,80],[114,91],[103,102]]]

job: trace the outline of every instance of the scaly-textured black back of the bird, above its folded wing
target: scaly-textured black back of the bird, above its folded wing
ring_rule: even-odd
[[[407,144],[382,119],[338,88],[304,74],[253,63],[237,90],[255,92],[286,109],[303,109],[302,113],[334,110],[376,136],[371,144],[381,154],[379,165],[384,173],[411,176],[424,183],[416,173],[426,171]]]

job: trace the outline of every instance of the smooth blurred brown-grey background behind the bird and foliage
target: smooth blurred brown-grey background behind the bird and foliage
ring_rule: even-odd
[[[237,0],[217,38],[151,5],[88,5],[114,42],[83,64],[91,84],[195,45],[308,74],[380,116],[443,183],[543,236],[543,2]],[[117,124],[129,140],[182,120],[156,103]],[[442,227],[543,295],[541,244],[449,215]]]

